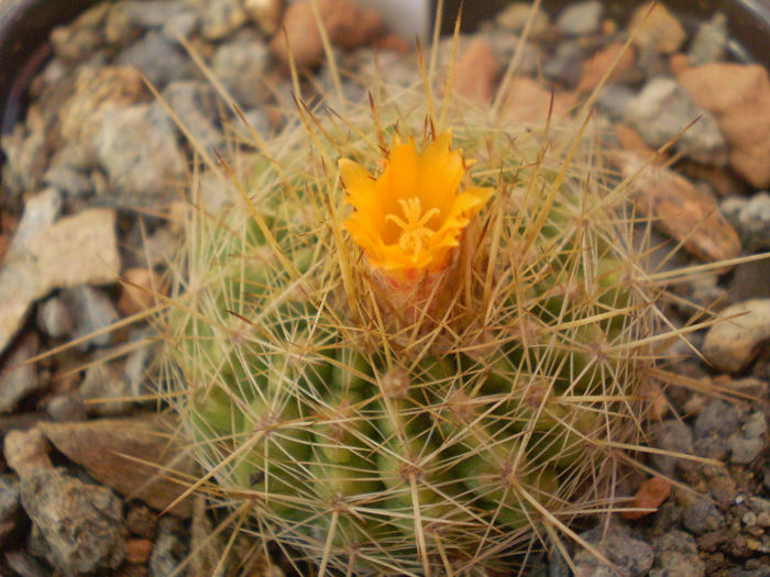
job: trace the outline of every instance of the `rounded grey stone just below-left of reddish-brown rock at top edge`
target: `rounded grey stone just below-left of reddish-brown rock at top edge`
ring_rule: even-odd
[[[271,52],[253,31],[244,30],[232,42],[222,44],[211,58],[211,69],[244,109],[263,104],[270,98],[264,75]]]

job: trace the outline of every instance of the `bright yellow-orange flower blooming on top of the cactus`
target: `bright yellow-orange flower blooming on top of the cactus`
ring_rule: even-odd
[[[374,178],[340,159],[346,201],[355,210],[344,228],[375,268],[392,278],[415,278],[447,266],[460,236],[492,195],[492,188],[458,192],[466,164],[451,151],[447,131],[420,153],[396,136],[382,174]]]

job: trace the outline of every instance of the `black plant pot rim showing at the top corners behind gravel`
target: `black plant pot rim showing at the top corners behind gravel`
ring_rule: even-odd
[[[509,0],[464,3],[464,27],[472,30]],[[642,0],[606,0],[607,13],[623,20]],[[48,35],[97,0],[0,0],[0,133],[19,120],[30,80],[51,55]],[[432,0],[433,5],[436,1]],[[461,0],[446,0],[443,29],[451,31]],[[558,10],[565,0],[543,0]],[[670,2],[683,18],[703,20],[719,10],[727,15],[734,55],[770,68],[770,0],[678,0]],[[2,157],[0,156],[0,162]]]

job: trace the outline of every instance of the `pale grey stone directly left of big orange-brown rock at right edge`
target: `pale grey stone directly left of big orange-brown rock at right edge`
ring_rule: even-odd
[[[628,103],[624,116],[653,148],[675,138],[697,119],[679,137],[676,148],[698,163],[722,165],[727,160],[727,144],[716,121],[673,78],[659,77],[647,82]]]

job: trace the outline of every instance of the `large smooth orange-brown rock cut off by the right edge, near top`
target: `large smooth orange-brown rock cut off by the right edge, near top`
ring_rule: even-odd
[[[719,124],[733,168],[758,188],[770,185],[770,78],[759,65],[679,67],[676,77]]]

